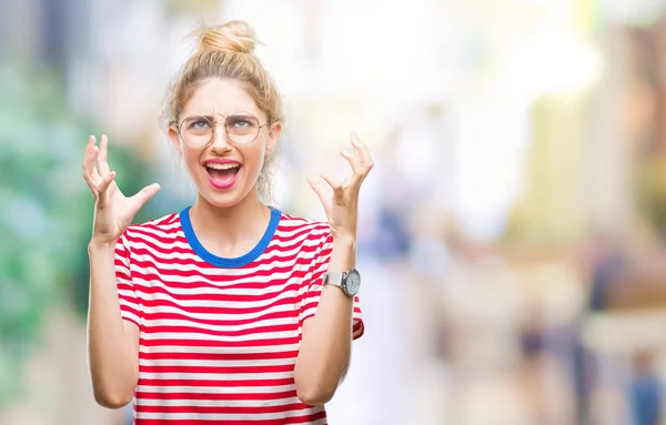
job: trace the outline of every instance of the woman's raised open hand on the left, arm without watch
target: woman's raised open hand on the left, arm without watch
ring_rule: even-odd
[[[115,245],[141,206],[158,193],[160,185],[153,183],[131,198],[123,195],[114,182],[115,172],[109,169],[108,149],[105,135],[102,135],[99,146],[95,136],[90,136],[83,158],[83,179],[90,186],[95,205],[91,242]]]

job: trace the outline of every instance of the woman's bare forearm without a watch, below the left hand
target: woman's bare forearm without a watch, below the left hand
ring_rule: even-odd
[[[104,407],[118,408],[133,396],[138,380],[138,355],[132,353],[118,300],[114,247],[89,245],[90,300],[88,356],[94,397]],[[134,326],[135,327],[135,326]],[[137,332],[138,337],[138,332]]]

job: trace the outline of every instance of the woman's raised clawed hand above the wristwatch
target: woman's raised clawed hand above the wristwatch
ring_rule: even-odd
[[[356,240],[356,223],[359,221],[359,192],[361,183],[373,168],[372,158],[367,146],[363,144],[355,132],[351,135],[354,152],[342,150],[340,154],[352,166],[341,183],[331,174],[321,174],[321,178],[309,175],[307,183],[319,196],[329,223],[333,240]]]

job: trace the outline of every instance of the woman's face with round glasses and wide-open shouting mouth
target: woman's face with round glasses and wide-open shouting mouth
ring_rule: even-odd
[[[200,196],[218,208],[258,196],[256,181],[281,132],[280,123],[266,122],[265,113],[235,80],[209,79],[196,88],[179,117],[180,135],[178,127],[172,127],[169,138]]]

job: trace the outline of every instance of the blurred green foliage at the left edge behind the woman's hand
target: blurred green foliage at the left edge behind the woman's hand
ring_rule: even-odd
[[[24,394],[21,364],[37,348],[46,313],[88,308],[92,196],[81,176],[95,125],[68,108],[57,72],[0,67],[0,409]],[[151,166],[113,145],[125,193],[154,181]],[[150,203],[137,216],[154,216]]]

